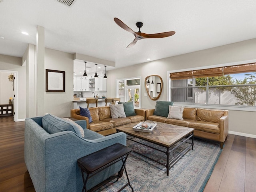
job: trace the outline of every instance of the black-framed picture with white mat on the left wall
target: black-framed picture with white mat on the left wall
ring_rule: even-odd
[[[46,92],[65,92],[65,71],[46,69]]]

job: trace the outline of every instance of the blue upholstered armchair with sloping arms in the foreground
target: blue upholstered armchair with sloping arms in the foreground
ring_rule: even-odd
[[[81,192],[82,173],[76,160],[115,143],[126,145],[124,133],[102,136],[86,129],[85,120],[76,121],[84,129],[84,138],[71,130],[49,134],[42,118],[25,120],[25,163],[36,192]],[[87,188],[114,175],[121,166],[118,162],[92,176]]]

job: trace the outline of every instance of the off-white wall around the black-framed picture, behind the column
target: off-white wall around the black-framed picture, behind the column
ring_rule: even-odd
[[[43,115],[49,113],[58,117],[70,116],[70,109],[73,108],[73,57],[70,53],[45,48],[44,76],[36,76],[36,46],[28,46],[22,58],[24,62],[26,61],[27,93],[30,93],[27,96],[27,117],[38,116],[36,89],[44,93],[44,108],[40,110]],[[46,69],[65,71],[65,92],[46,92]],[[42,82],[42,85],[37,86],[34,80]]]

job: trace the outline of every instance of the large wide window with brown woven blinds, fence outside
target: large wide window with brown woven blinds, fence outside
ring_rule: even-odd
[[[256,63],[174,72],[170,79],[174,102],[256,106]]]

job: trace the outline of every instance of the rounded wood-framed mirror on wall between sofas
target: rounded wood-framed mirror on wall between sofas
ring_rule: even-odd
[[[163,80],[159,75],[150,75],[145,78],[145,88],[152,100],[158,100],[162,93]]]

